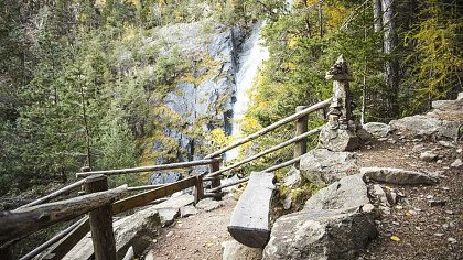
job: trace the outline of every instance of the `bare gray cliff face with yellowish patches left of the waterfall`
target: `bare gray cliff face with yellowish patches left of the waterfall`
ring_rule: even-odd
[[[149,43],[162,41],[166,46],[175,46],[181,63],[190,66],[185,75],[175,78],[173,89],[149,100],[152,107],[162,108],[157,115],[168,122],[148,144],[151,164],[201,159],[209,144],[211,130],[232,131],[238,50],[246,36],[238,29],[212,24],[204,21],[169,25]]]

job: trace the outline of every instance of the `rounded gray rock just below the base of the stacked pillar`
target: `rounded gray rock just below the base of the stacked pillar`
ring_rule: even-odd
[[[319,185],[330,184],[347,176],[356,169],[356,156],[352,152],[332,152],[314,149],[300,161],[301,175]]]

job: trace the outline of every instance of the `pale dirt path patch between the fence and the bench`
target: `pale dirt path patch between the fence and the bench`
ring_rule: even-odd
[[[219,260],[222,242],[233,239],[227,226],[236,201],[224,199],[224,206],[211,212],[201,212],[162,229],[150,253],[155,260]]]

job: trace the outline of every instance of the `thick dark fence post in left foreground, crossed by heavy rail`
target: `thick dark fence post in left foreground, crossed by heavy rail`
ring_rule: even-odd
[[[105,175],[93,175],[86,178],[87,194],[108,189]],[[116,260],[116,240],[112,230],[111,205],[105,205],[89,213],[91,240],[94,242],[96,260]]]

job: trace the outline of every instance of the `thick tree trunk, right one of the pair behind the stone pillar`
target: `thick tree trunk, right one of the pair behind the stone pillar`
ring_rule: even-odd
[[[395,21],[395,0],[383,0],[384,53],[387,56],[385,64],[385,82],[388,87],[388,117],[398,115],[397,97],[399,91],[399,64],[392,56],[397,48],[397,33]]]

